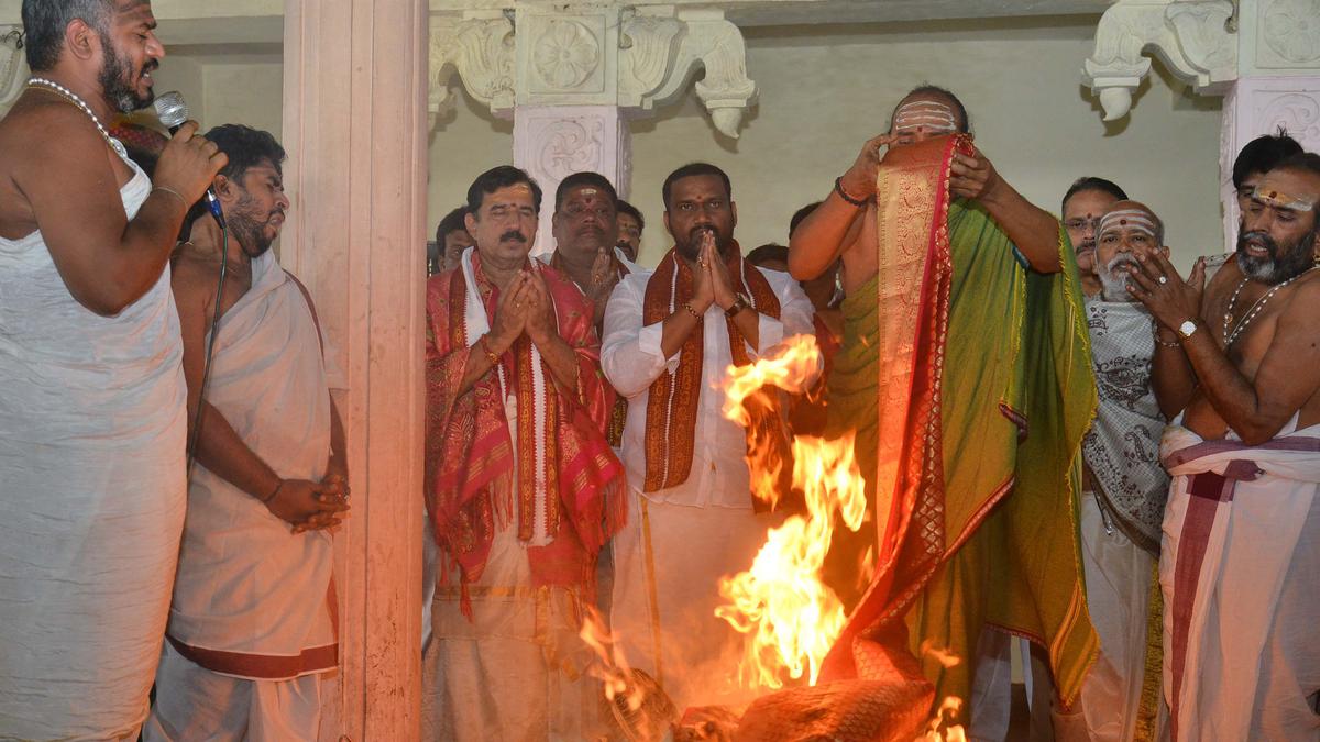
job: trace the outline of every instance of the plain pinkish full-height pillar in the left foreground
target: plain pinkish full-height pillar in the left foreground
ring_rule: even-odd
[[[420,734],[426,51],[425,0],[285,0],[281,257],[337,350],[354,495],[322,739]]]

